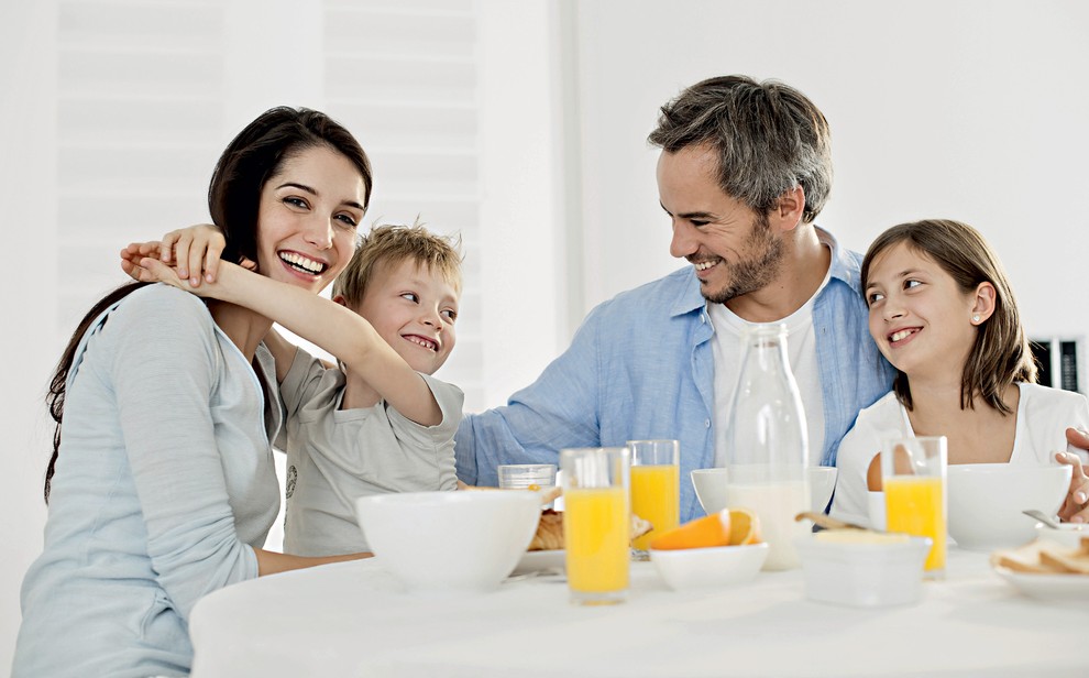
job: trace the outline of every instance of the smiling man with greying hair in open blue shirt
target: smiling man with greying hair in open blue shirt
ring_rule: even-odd
[[[496,484],[499,463],[571,447],[681,441],[681,478],[725,462],[741,333],[785,324],[813,462],[835,464],[859,409],[893,371],[867,329],[861,256],[814,225],[832,187],[824,114],[800,91],[717,77],[667,103],[650,142],[670,253],[691,264],[586,317],[571,347],[504,407],[465,417],[458,474]],[[681,518],[702,515],[681,482]]]

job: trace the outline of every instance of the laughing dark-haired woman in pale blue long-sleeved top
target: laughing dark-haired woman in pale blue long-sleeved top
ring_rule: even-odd
[[[272,109],[227,147],[208,204],[224,258],[317,294],[351,259],[371,194],[359,143]],[[23,581],[14,676],[187,675],[187,620],[230,583],[333,560],[263,550],[279,510],[271,320],[167,285],[100,300],[48,403],[45,548]]]

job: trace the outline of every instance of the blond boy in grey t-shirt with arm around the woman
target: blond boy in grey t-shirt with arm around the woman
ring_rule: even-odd
[[[305,277],[308,259],[285,250],[273,265]],[[339,359],[329,367],[275,330],[264,337],[287,415],[277,440],[287,451],[285,553],[370,550],[356,497],[457,489],[464,394],[431,376],[455,341],[461,256],[450,241],[421,226],[376,227],[337,277],[336,304],[227,261],[199,287],[154,260],[140,264],[140,280],[245,306]]]

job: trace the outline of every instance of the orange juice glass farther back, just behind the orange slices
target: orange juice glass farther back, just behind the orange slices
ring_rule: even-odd
[[[657,535],[681,518],[681,444],[676,440],[628,440],[631,450],[631,513],[651,531],[631,543],[636,560],[649,560],[647,549]]]

